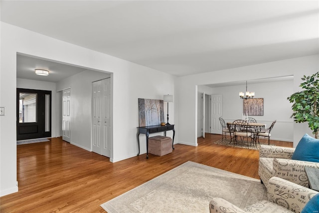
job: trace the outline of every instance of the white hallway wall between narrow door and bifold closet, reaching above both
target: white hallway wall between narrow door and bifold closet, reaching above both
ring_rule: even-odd
[[[56,83],[56,91],[71,88],[71,144],[91,151],[92,82],[110,76],[86,70]]]

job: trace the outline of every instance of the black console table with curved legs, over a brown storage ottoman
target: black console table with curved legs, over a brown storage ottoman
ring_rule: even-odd
[[[138,156],[140,155],[140,134],[145,134],[146,135],[146,158],[149,159],[149,136],[151,133],[157,133],[157,132],[164,132],[164,135],[166,136],[166,131],[173,131],[173,140],[172,140],[172,145],[171,147],[174,149],[174,137],[175,137],[175,129],[174,129],[174,124],[170,124],[167,126],[160,126],[160,125],[155,125],[155,126],[146,126],[146,127],[138,127],[138,145],[139,145],[139,153]]]

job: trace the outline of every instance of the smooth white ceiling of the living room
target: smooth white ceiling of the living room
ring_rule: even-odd
[[[319,53],[318,0],[1,0],[0,6],[3,22],[176,76]]]

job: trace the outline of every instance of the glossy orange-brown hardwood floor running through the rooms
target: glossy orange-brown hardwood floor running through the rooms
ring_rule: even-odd
[[[213,144],[221,135],[198,138],[198,147],[174,145],[171,154],[146,154],[110,163],[61,138],[17,146],[19,192],[0,198],[1,213],[105,212],[99,205],[193,161],[259,179],[258,150]],[[271,141],[277,146],[293,143]]]

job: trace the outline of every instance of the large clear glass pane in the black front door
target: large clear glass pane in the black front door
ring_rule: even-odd
[[[19,123],[36,122],[36,93],[19,93]]]

